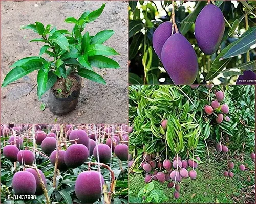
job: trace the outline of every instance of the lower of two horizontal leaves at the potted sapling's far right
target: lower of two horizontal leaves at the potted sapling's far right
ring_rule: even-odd
[[[115,60],[112,60],[103,55],[95,55],[95,56],[89,57],[88,61],[93,67],[112,68],[112,69],[120,68],[119,64]]]

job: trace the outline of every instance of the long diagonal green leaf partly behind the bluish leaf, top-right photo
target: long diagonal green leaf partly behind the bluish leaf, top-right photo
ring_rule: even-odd
[[[234,47],[234,45],[242,42],[246,42],[248,41],[246,39],[247,36],[250,36],[249,39],[251,39],[252,35],[251,33],[255,32],[256,27],[252,27],[249,30],[247,30],[242,36],[241,38],[239,38],[238,40],[232,42],[231,44],[229,44],[228,46],[226,46],[223,50],[221,50],[220,54],[215,58],[214,62],[212,62],[211,67],[210,67],[210,71],[209,73],[206,75],[205,77],[205,81],[208,80],[212,80],[214,79],[221,71],[222,69],[231,61],[232,58],[230,59],[223,59],[223,56],[231,49]],[[252,37],[253,38],[253,37]],[[253,38],[253,40],[255,40],[255,38]],[[242,45],[240,43],[240,45]],[[245,44],[246,46],[247,44]],[[233,49],[232,49],[233,50]],[[235,50],[236,51],[236,50]]]

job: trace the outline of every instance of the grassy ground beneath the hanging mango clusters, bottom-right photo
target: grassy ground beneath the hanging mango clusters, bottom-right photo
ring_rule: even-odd
[[[212,151],[214,152],[214,151]],[[211,162],[202,159],[195,180],[184,179],[181,181],[180,198],[174,199],[174,189],[167,187],[167,182],[160,184],[153,181],[155,189],[164,191],[168,197],[166,203],[255,203],[255,170],[254,162],[249,155],[245,155],[244,172],[239,170],[240,156],[233,156],[234,177],[224,177],[223,172],[227,169],[227,160],[223,155],[210,153]],[[145,186],[142,174],[129,175],[129,199],[137,197],[138,192]]]

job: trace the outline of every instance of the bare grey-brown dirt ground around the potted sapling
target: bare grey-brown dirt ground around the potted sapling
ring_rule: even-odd
[[[1,1],[1,84],[9,67],[18,59],[38,56],[42,42],[30,42],[39,38],[31,30],[19,30],[20,26],[34,24],[56,25],[57,29],[72,30],[73,24],[64,20],[73,16],[79,18],[86,10],[98,9],[104,1]],[[113,56],[120,69],[98,69],[107,85],[83,79],[81,94],[76,109],[64,116],[55,116],[47,107],[48,92],[38,101],[36,76],[33,72],[1,89],[1,123],[123,123],[128,121],[127,61],[128,21],[127,1],[107,1],[101,16],[87,24],[86,31],[95,35],[101,30],[112,29],[115,34],[104,43],[113,47],[119,56]],[[43,55],[44,56],[44,55]],[[29,95],[28,95],[29,94]]]

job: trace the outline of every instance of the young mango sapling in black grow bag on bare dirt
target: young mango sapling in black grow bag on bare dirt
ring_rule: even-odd
[[[22,27],[40,35],[40,38],[30,42],[43,42],[45,45],[41,47],[39,56],[25,57],[11,65],[13,69],[6,75],[2,87],[38,70],[39,100],[49,90],[48,106],[53,114],[63,115],[73,110],[78,103],[81,77],[106,84],[92,67],[120,68],[116,61],[106,57],[119,54],[113,48],[103,45],[114,34],[113,30],[103,30],[94,36],[90,36],[88,31],[83,32],[87,23],[101,15],[104,7],[105,4],[95,11],[86,11],[79,19],[66,18],[66,23],[74,23],[72,32],[57,30],[50,24],[45,27],[40,22]],[[43,58],[43,54],[48,58]]]

